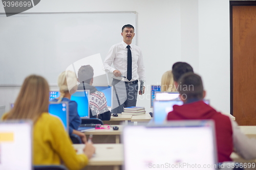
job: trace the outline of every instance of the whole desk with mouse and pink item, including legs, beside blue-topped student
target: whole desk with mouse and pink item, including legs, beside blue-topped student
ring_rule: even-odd
[[[120,135],[122,134],[123,131],[123,126],[122,125],[115,125],[119,129],[118,130],[113,130],[113,126],[110,129],[95,129],[92,131],[84,132],[86,135],[94,135],[93,136],[93,143],[109,143],[107,141],[108,135],[115,136],[115,143],[120,143]],[[97,138],[95,138],[97,136]],[[103,140],[102,140],[103,139]]]

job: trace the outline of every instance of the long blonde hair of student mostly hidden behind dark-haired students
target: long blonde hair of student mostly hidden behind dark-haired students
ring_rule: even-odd
[[[174,76],[172,70],[164,72],[161,79],[161,91],[177,91],[174,86]]]

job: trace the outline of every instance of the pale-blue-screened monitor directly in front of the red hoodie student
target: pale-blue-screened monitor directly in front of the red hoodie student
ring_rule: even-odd
[[[155,124],[163,124],[164,120],[167,117],[167,114],[171,111],[173,111],[173,106],[178,105],[181,106],[183,105],[183,102],[181,100],[164,100],[166,99],[165,96],[164,98],[159,98],[161,100],[154,100],[154,123]],[[168,98],[167,98],[168,99]],[[204,103],[209,104],[209,100],[204,100]]]

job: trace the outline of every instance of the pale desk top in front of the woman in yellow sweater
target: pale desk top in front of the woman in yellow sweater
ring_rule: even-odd
[[[106,166],[123,164],[122,144],[93,144],[96,149],[95,157],[89,160],[88,165]],[[77,154],[83,154],[84,144],[73,144]]]

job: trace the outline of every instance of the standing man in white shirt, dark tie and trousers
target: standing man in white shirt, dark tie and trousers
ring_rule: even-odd
[[[138,80],[145,82],[145,67],[140,47],[132,44],[134,27],[122,27],[123,41],[113,45],[104,61],[106,72],[113,73],[112,113],[121,113],[124,107],[136,106]],[[114,65],[115,68],[111,67]],[[144,93],[139,91],[139,94]]]

